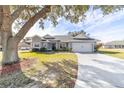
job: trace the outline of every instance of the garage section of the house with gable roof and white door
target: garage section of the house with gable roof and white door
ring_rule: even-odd
[[[86,34],[79,34],[71,40],[73,52],[92,53],[95,51],[96,39],[90,38]]]

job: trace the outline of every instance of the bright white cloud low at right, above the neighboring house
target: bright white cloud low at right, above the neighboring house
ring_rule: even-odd
[[[124,30],[121,26],[111,27],[109,29],[96,30],[92,37],[100,39],[102,42],[124,40]]]

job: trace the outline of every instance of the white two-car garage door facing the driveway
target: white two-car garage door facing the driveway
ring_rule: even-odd
[[[72,43],[73,52],[93,52],[92,43]]]

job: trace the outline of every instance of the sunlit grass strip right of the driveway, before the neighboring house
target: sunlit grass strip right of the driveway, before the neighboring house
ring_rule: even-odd
[[[109,56],[124,59],[124,49],[99,49],[99,52]]]

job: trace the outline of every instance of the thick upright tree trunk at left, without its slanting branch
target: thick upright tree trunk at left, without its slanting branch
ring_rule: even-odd
[[[1,27],[1,41],[2,41],[2,65],[12,64],[18,62],[18,43],[12,36],[12,23],[10,6],[3,7],[3,20]]]

